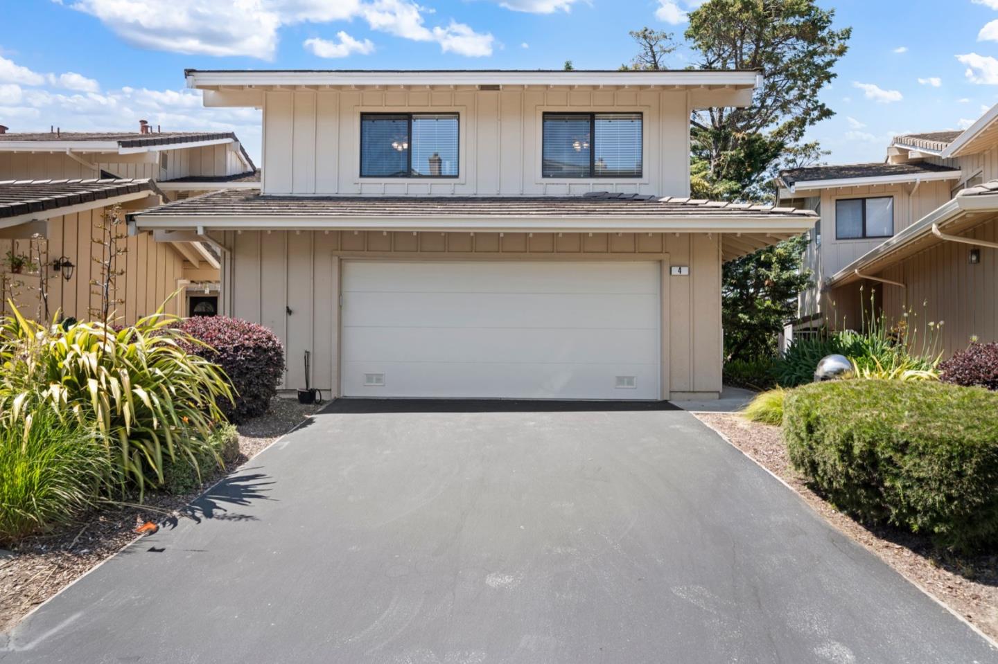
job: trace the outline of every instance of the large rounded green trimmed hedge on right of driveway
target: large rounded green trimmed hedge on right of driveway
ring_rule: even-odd
[[[787,393],[790,461],[839,508],[969,551],[998,544],[998,395],[936,382]]]

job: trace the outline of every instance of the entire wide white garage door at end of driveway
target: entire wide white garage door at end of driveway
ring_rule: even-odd
[[[346,261],[342,394],[658,399],[660,269]]]

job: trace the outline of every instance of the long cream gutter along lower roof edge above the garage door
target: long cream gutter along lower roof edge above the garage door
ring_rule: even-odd
[[[817,216],[746,215],[719,218],[697,215],[634,218],[626,216],[512,216],[495,214],[464,217],[441,216],[209,216],[165,214],[131,215],[145,229],[198,228],[203,235],[211,230],[405,230],[405,231],[489,231],[489,232],[719,232],[719,233],[799,233],[814,225]],[[206,241],[214,240],[206,239]]]

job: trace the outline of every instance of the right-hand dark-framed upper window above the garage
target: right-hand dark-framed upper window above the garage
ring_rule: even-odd
[[[545,113],[544,177],[641,177],[640,113]]]

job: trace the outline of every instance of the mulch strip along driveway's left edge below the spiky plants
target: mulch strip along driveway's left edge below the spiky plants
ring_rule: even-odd
[[[137,522],[160,521],[166,514],[175,513],[318,408],[275,398],[265,415],[238,427],[239,458],[225,472],[220,469],[214,476],[206,477],[201,489],[191,494],[147,494],[142,505],[109,506],[84,514],[76,523],[58,531],[29,537],[10,551],[0,549],[0,633],[134,540]]]

